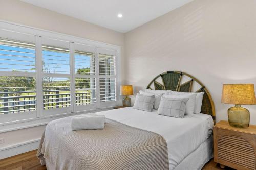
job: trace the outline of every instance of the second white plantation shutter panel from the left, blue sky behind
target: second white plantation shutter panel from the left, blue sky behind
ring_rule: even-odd
[[[69,42],[42,38],[43,108],[47,115],[71,111]],[[52,110],[55,111],[52,111]]]

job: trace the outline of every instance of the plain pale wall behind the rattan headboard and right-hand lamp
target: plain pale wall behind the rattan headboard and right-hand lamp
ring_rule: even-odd
[[[125,34],[125,74],[135,92],[161,72],[179,70],[210,91],[227,120],[222,84],[256,84],[256,1],[195,0]],[[256,106],[244,106],[256,124]]]

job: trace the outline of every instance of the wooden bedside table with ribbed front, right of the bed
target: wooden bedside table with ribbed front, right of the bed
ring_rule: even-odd
[[[227,121],[214,126],[214,161],[234,169],[256,169],[256,126],[236,128]]]

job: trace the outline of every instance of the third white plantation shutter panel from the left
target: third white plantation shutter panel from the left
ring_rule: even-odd
[[[96,107],[95,48],[74,43],[75,110]]]

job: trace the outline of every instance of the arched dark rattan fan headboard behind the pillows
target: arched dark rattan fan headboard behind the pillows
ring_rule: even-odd
[[[183,75],[189,77],[190,80],[181,84]],[[156,81],[159,77],[162,79],[162,83]],[[154,83],[155,90],[172,90],[172,91],[181,91],[181,92],[192,92],[193,82],[197,82],[201,88],[195,92],[204,92],[203,102],[201,107],[201,113],[211,115],[215,120],[215,108],[214,102],[211,99],[209,91],[205,86],[197,80],[195,77],[181,71],[167,71],[156,76],[150,84],[147,85],[147,89],[152,89],[151,85]]]

